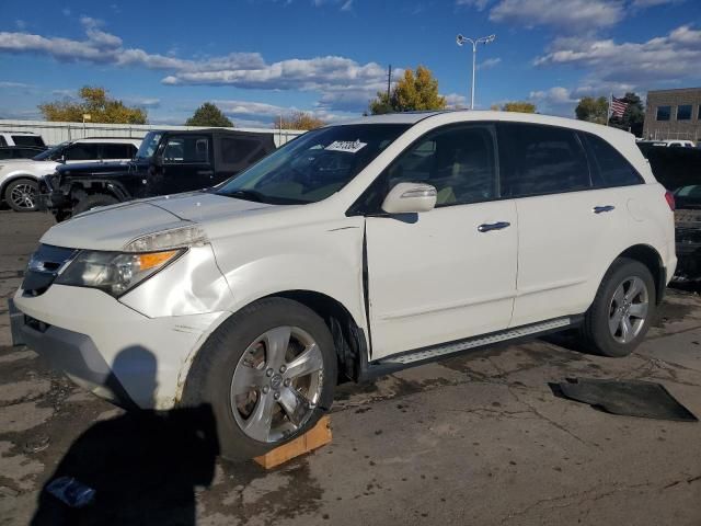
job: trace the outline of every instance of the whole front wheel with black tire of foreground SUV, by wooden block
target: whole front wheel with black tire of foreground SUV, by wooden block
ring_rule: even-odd
[[[333,338],[315,312],[285,298],[262,299],[209,336],[182,403],[210,404],[221,454],[249,459],[317,424],[333,401],[336,359]]]

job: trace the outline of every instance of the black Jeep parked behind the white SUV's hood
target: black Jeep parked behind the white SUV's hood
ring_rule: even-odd
[[[39,183],[39,208],[62,221],[97,206],[215,186],[274,149],[273,134],[150,132],[130,161],[58,167]]]

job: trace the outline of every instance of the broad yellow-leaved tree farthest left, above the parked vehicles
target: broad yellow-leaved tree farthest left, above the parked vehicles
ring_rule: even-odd
[[[129,107],[122,101],[111,99],[107,90],[84,85],[78,92],[79,101],[62,101],[39,104],[39,111],[47,121],[82,123],[83,115],[90,115],[91,123],[146,124],[147,113],[141,107]]]

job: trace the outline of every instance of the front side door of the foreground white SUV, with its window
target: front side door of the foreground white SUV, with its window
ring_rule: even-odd
[[[432,184],[438,201],[428,213],[367,217],[371,358],[506,329],[518,227],[514,202],[498,198],[493,127],[429,133],[375,187],[400,182]]]

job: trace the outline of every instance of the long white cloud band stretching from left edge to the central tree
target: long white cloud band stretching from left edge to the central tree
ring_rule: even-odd
[[[205,59],[152,54],[126,47],[120,37],[103,30],[103,22],[82,16],[85,39],[0,32],[0,53],[33,53],[64,61],[162,70],[166,85],[231,85],[241,89],[296,90],[321,93],[324,111],[361,111],[386,85],[386,69],[376,62],[325,56],[291,58],[268,64],[258,53],[231,53]],[[402,70],[395,70],[402,75]]]

